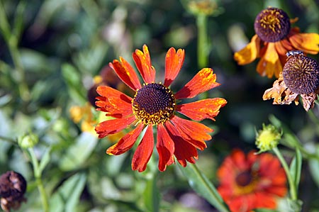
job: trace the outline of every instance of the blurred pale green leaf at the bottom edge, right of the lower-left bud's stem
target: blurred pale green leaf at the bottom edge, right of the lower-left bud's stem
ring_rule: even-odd
[[[86,183],[86,174],[78,173],[67,179],[60,188],[55,191],[50,199],[50,211],[62,212],[77,211],[79,197]]]

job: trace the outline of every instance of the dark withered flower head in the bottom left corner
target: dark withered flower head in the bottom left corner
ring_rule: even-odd
[[[26,179],[18,172],[9,171],[2,174],[0,177],[1,208],[6,212],[20,208],[21,202],[26,201],[23,196],[26,193],[26,187]]]

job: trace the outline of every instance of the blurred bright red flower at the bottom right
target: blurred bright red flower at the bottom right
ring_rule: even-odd
[[[218,169],[218,192],[233,212],[276,208],[276,198],[285,196],[286,174],[270,153],[255,155],[233,150]]]

